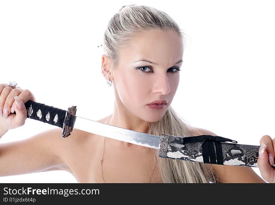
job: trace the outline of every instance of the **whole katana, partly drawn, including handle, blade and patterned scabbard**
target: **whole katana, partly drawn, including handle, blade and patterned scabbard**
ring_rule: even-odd
[[[62,128],[62,138],[68,137],[73,132],[73,128],[76,128],[100,136],[158,149],[159,157],[163,158],[205,164],[258,167],[257,159],[260,148],[258,145],[237,144],[235,140],[212,135],[183,137],[141,133],[76,116],[76,106],[62,110],[29,100],[25,103],[25,107],[27,118]]]

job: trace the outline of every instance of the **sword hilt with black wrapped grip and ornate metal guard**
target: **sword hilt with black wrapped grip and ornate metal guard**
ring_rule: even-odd
[[[25,103],[25,107],[27,118],[63,128],[62,138],[68,137],[72,133],[73,127],[69,126],[69,121],[71,115],[76,114],[76,106],[68,107],[68,110],[62,110],[29,100]],[[14,111],[14,113],[16,112]]]

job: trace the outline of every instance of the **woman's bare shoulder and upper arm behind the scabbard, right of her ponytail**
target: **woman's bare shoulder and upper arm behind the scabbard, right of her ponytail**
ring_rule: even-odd
[[[196,135],[217,134],[203,128],[191,127]],[[266,183],[251,167],[209,164],[217,173],[219,183]]]

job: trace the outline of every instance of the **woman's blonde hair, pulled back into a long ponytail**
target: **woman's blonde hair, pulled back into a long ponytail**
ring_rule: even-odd
[[[110,19],[104,33],[104,53],[112,64],[109,65],[109,72],[112,73],[118,65],[120,48],[126,46],[137,33],[154,28],[164,31],[173,29],[184,43],[184,33],[167,13],[144,5],[123,6]],[[161,134],[184,137],[201,135],[198,131],[188,129],[187,123],[173,110],[171,105],[162,119],[150,123],[145,132],[158,136]],[[157,149],[152,149],[152,154],[156,155],[163,183],[217,183],[217,174],[209,164],[162,158],[158,156]]]

